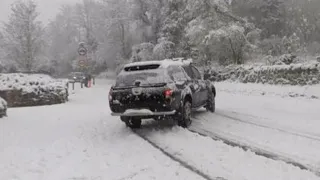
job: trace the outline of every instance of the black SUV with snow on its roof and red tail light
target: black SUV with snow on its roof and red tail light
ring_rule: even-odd
[[[165,117],[188,127],[192,110],[215,111],[215,96],[215,87],[192,61],[147,61],[124,66],[110,89],[109,104],[112,115],[131,128],[140,128],[142,119]]]

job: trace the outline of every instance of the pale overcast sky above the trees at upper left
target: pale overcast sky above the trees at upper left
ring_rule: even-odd
[[[59,12],[59,8],[63,4],[70,4],[81,2],[81,0],[34,0],[38,4],[38,11],[40,13],[39,20],[45,24],[55,17]],[[11,4],[15,0],[0,0],[0,21],[6,21],[11,11]]]

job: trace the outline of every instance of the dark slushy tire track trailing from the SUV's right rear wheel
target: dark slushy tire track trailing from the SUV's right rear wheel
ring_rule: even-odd
[[[195,118],[193,117],[193,119],[198,119],[199,118]],[[267,150],[264,150],[264,149],[260,149],[258,147],[253,147],[253,146],[250,146],[250,145],[247,145],[247,144],[243,144],[243,143],[240,143],[240,142],[237,142],[236,140],[232,140],[232,139],[229,139],[229,138],[226,138],[226,137],[223,137],[217,133],[214,133],[214,132],[210,132],[210,131],[207,131],[207,130],[204,130],[204,129],[196,129],[196,128],[192,128],[192,126],[190,128],[188,128],[188,130],[192,133],[196,133],[196,134],[199,134],[200,136],[203,136],[203,137],[209,137],[215,141],[222,141],[223,143],[229,145],[229,146],[233,146],[233,147],[239,147],[245,151],[251,151],[251,152],[254,152],[256,155],[259,155],[259,156],[263,156],[263,157],[266,157],[266,158],[269,158],[269,159],[273,159],[273,160],[276,160],[276,161],[283,161],[287,164],[290,164],[290,165],[293,165],[293,166],[296,166],[296,167],[299,167],[300,169],[302,170],[308,170],[310,172],[313,172],[315,173],[317,176],[320,177],[320,170],[319,169],[315,169],[313,167],[310,167],[309,165],[305,165],[301,162],[298,162],[292,158],[289,158],[289,157],[285,157],[285,156],[281,156],[277,153],[274,153],[274,152],[271,152],[271,151],[267,151]]]

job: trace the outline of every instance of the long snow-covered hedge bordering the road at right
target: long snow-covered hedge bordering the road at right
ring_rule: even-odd
[[[228,66],[215,77],[215,81],[226,80],[281,85],[319,84],[320,63]]]

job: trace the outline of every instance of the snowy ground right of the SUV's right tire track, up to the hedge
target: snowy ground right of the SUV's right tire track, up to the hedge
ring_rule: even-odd
[[[215,85],[218,89],[216,113],[198,112],[192,128],[273,152],[319,172],[320,100],[283,97],[290,92],[288,88],[297,93],[296,90],[301,91],[302,87],[236,83]],[[268,95],[259,96],[260,89]],[[314,94],[308,94],[311,95]]]

